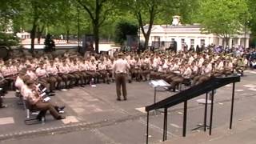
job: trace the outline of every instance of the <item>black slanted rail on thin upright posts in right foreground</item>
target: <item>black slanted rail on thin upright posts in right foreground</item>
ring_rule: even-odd
[[[184,103],[184,112],[183,112],[183,137],[186,137],[186,112],[187,112],[187,102],[192,99],[196,98],[202,94],[207,94],[209,92],[212,93],[212,100],[211,100],[211,107],[210,107],[210,131],[211,134],[212,130],[212,121],[213,121],[213,109],[214,109],[214,90],[222,86],[226,86],[230,83],[233,83],[232,89],[232,100],[231,100],[231,111],[230,111],[230,129],[232,128],[232,120],[233,120],[233,110],[234,110],[234,87],[235,82],[240,82],[240,76],[238,75],[231,75],[228,77],[215,77],[210,78],[206,82],[202,82],[196,86],[192,86],[187,90],[183,90],[178,94],[174,94],[169,98],[163,99],[160,102],[156,102],[150,106],[146,106],[145,110],[147,112],[147,127],[146,127],[146,143],[148,143],[148,136],[149,136],[149,114],[151,110],[158,110],[164,109],[164,124],[163,124],[163,137],[162,141],[166,141],[167,139],[167,110],[168,108],[178,105],[179,103]],[[206,98],[207,101],[207,98]],[[204,114],[204,130],[206,131],[206,116],[207,116],[207,102],[205,105],[205,114]]]

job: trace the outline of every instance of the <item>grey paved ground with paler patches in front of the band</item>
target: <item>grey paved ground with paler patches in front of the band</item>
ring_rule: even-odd
[[[234,122],[254,118],[256,110],[256,76],[254,71],[246,72],[242,82],[236,85]],[[214,105],[214,130],[229,122],[231,86],[217,91]],[[47,115],[45,125],[26,126],[25,111],[16,105],[17,98],[9,93],[4,99],[9,105],[0,110],[0,141],[2,143],[145,143],[146,114],[144,106],[152,104],[154,90],[148,82],[128,84],[128,101],[115,101],[115,85],[99,84],[68,91],[58,91],[53,102],[66,105],[66,119],[55,121]],[[158,100],[173,93],[158,93]],[[204,98],[199,97],[199,98]],[[202,123],[204,106],[192,99],[188,105],[187,133]],[[181,139],[182,104],[171,108],[168,118],[168,139]],[[162,114],[150,114],[150,143],[161,142]],[[208,118],[209,119],[209,118]],[[252,128],[249,131],[253,131]],[[225,130],[224,130],[225,131]],[[239,135],[239,134],[238,134]],[[204,135],[207,137],[206,135]],[[189,137],[188,137],[189,138]],[[232,139],[232,138],[231,138]],[[193,138],[192,138],[193,140]],[[231,141],[230,141],[231,142]]]

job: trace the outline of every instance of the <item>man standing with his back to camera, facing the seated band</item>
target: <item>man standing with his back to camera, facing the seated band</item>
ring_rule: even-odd
[[[127,91],[126,91],[126,74],[130,69],[128,62],[123,59],[123,54],[118,54],[118,60],[114,62],[114,75],[115,75],[115,84],[117,89],[117,100],[121,101],[121,86],[122,86],[122,95],[123,99],[127,100]]]

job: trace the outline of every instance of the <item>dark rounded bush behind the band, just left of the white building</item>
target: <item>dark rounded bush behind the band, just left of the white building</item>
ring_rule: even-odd
[[[115,42],[122,44],[126,41],[126,35],[137,35],[138,26],[130,22],[118,22],[115,31]]]

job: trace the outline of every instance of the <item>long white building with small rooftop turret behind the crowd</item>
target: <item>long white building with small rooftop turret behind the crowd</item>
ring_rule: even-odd
[[[146,30],[148,26],[144,26]],[[246,39],[245,39],[246,37]],[[245,46],[249,47],[250,31],[246,34],[235,34],[230,38],[228,46]],[[142,32],[140,33],[140,40],[145,41]],[[149,46],[152,46],[154,42],[162,43],[160,48],[169,47],[168,44],[165,46],[165,42],[177,42],[177,49],[181,50],[183,44],[190,48],[198,46],[209,46],[214,44],[216,46],[226,46],[224,38],[219,37],[217,34],[203,34],[201,32],[200,24],[194,25],[181,25],[179,21],[179,16],[173,17],[172,25],[154,25],[149,40]]]

